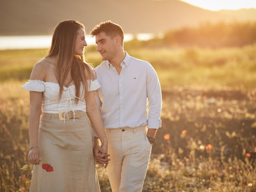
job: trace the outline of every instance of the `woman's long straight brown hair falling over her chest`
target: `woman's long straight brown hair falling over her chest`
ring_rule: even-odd
[[[83,55],[74,54],[76,36],[80,28],[85,29],[83,24],[75,20],[64,20],[60,22],[54,29],[52,45],[46,56],[57,56],[55,75],[60,86],[59,101],[69,72],[72,78],[70,82],[72,80],[74,81],[76,97],[78,98],[80,97],[81,84],[83,86],[82,96],[85,98],[88,88],[87,80],[94,76],[92,66],[84,60],[84,53]],[[88,77],[86,77],[85,70],[89,74]],[[76,98],[76,104],[78,104],[78,98]]]

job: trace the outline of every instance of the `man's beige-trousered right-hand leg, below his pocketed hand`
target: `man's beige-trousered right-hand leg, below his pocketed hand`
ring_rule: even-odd
[[[151,154],[146,129],[135,129],[122,140],[124,159],[119,192],[141,192]]]

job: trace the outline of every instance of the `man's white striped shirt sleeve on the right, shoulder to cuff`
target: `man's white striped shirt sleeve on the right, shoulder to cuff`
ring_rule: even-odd
[[[158,129],[162,126],[162,120],[160,119],[162,111],[162,93],[156,71],[149,63],[146,74],[146,89],[148,98],[148,128]]]

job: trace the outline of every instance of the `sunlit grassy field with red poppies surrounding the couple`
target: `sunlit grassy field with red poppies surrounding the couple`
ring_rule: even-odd
[[[162,86],[162,128],[156,135],[144,192],[256,191],[256,46],[132,49],[148,60]],[[100,64],[95,47],[86,59]],[[29,190],[29,93],[20,86],[47,50],[0,51],[0,192]],[[103,192],[111,191],[97,165]]]

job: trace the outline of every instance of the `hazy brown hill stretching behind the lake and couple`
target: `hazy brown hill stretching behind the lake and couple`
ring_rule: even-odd
[[[256,9],[210,11],[179,0],[3,0],[0,35],[48,34],[60,21],[82,22],[87,32],[112,20],[126,33],[156,33],[202,22],[256,20]],[[4,19],[3,19],[4,18]]]

